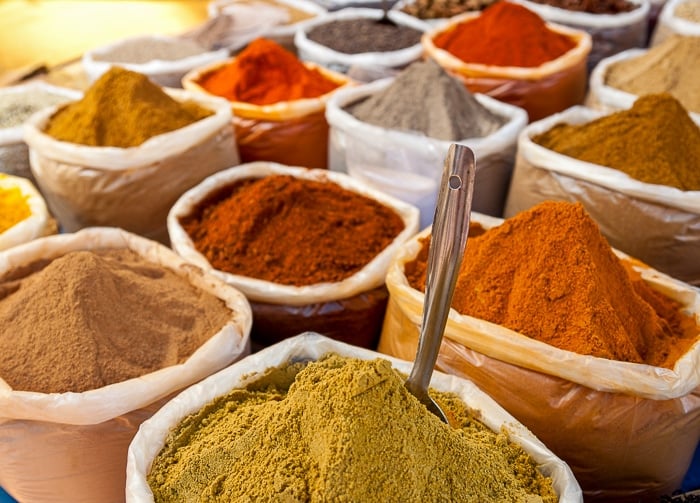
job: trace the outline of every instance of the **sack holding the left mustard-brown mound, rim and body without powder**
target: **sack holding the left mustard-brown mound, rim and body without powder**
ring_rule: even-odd
[[[91,147],[43,133],[56,108],[31,117],[25,127],[32,173],[63,231],[121,227],[159,241],[166,217],[183,192],[208,175],[239,163],[226,100],[166,89],[215,113],[136,147]]]

